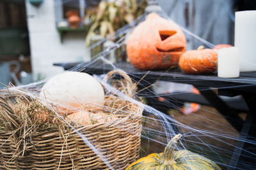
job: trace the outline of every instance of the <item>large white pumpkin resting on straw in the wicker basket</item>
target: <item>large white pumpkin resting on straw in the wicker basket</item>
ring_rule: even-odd
[[[68,109],[102,108],[104,90],[93,76],[87,73],[67,71],[53,76],[40,92],[42,99],[48,99]],[[83,107],[81,107],[83,106]]]

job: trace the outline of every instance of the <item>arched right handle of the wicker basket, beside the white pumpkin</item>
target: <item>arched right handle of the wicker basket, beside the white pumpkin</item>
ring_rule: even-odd
[[[109,71],[106,74],[106,76],[104,76],[103,82],[107,83],[108,80],[111,78],[111,76],[113,76],[113,74],[119,74],[120,76],[122,76],[124,78],[124,80],[126,81],[126,87],[124,87],[124,88],[127,90],[127,93],[129,94],[129,96],[133,97],[134,92],[136,91],[136,85],[134,85],[134,83],[132,82],[132,79],[124,70],[113,69],[112,71]]]

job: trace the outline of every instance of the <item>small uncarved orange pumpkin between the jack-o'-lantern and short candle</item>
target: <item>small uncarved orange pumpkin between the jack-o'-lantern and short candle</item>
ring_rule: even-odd
[[[217,61],[216,50],[204,49],[204,46],[199,46],[197,50],[183,53],[180,56],[179,66],[185,73],[211,73],[216,71]]]

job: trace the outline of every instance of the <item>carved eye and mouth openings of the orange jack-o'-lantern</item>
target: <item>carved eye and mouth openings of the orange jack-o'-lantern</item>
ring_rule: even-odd
[[[159,36],[161,38],[161,41],[164,41],[171,36],[177,34],[177,31],[159,31]],[[163,50],[161,48],[156,48],[158,52],[183,52],[184,51],[184,46],[168,49],[168,50]]]

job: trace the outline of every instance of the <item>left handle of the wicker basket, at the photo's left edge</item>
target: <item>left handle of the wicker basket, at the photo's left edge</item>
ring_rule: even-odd
[[[6,116],[9,118],[11,125],[10,127],[16,127],[19,128],[19,121],[17,120],[17,118],[14,115],[14,111],[12,110],[12,108],[10,107],[10,105],[7,103],[7,101],[3,98],[0,97],[0,106],[3,108],[3,114],[6,114]]]

